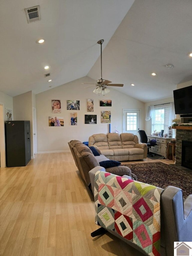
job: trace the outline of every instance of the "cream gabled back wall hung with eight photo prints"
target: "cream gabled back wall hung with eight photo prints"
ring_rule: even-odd
[[[111,131],[122,132],[122,109],[140,109],[141,126],[144,125],[144,103],[131,98],[109,87],[110,92],[103,95],[93,93],[95,86],[82,83],[95,83],[89,77],[83,77],[70,83],[52,88],[36,95],[37,141],[39,152],[69,151],[70,140],[88,141],[89,136],[97,133],[108,133],[109,124],[101,124],[101,111],[111,110]],[[53,85],[54,86],[54,85]],[[94,99],[94,112],[87,112],[87,99]],[[61,100],[61,113],[52,114],[51,100]],[[99,101],[112,100],[112,107],[100,107]],[[67,100],[79,100],[80,110],[67,110]],[[70,113],[77,112],[78,125],[70,125]],[[97,124],[85,124],[86,115],[97,115]],[[64,117],[64,127],[49,127],[49,116]]]

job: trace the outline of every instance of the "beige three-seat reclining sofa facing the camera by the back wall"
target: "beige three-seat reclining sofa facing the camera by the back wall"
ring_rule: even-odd
[[[110,160],[133,161],[147,157],[147,144],[139,143],[137,135],[132,133],[93,134],[88,145],[99,149]]]

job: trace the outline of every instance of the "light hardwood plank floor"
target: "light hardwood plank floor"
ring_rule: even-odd
[[[153,161],[173,164],[137,163]],[[92,238],[94,217],[71,153],[38,154],[26,167],[0,169],[0,255],[141,255],[109,233]]]

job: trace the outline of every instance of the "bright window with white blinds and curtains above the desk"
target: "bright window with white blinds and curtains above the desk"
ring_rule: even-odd
[[[172,119],[172,109],[170,105],[154,106],[152,115],[152,133],[164,130],[164,134],[168,133],[170,122]]]

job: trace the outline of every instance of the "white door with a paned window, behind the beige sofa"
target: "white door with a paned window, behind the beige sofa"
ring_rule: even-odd
[[[123,109],[123,132],[129,132],[137,135],[140,129],[140,110]]]

